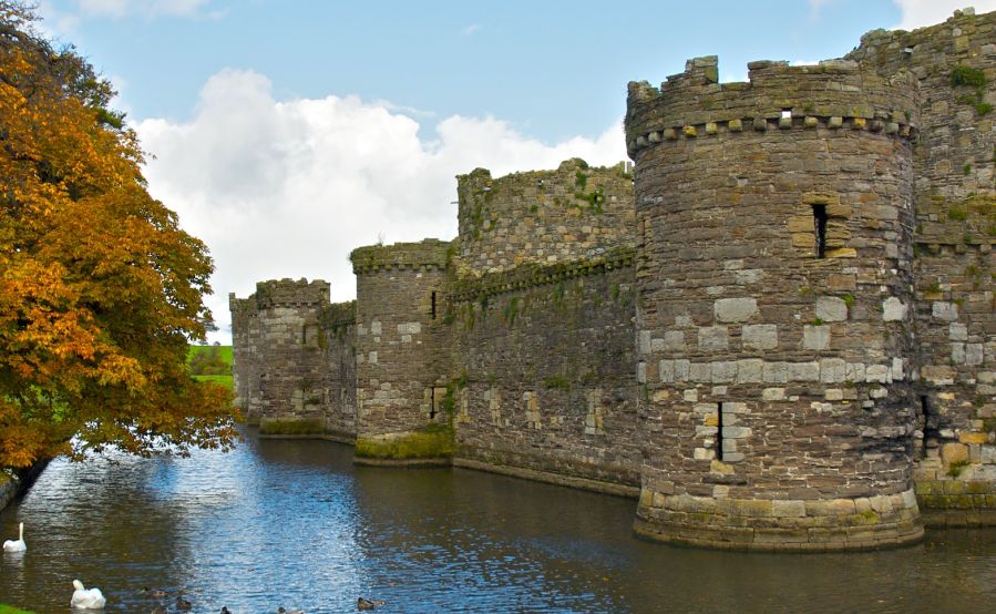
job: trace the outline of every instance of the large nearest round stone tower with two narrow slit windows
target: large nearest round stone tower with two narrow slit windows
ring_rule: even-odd
[[[636,530],[697,545],[923,534],[912,484],[917,85],[856,64],[716,58],[629,86]]]

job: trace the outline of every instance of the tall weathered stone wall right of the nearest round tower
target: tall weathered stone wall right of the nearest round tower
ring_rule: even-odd
[[[876,30],[848,57],[920,82],[917,492],[942,522],[976,523],[996,510],[996,13]]]

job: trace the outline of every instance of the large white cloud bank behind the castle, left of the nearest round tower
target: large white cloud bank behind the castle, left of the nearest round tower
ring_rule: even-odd
[[[622,122],[595,140],[547,145],[494,117],[419,123],[356,96],[276,101],[270,82],[226,70],[208,80],[189,123],[137,124],[153,153],[150,191],[179,214],[215,258],[208,304],[226,330],[227,294],[283,277],[328,279],[332,300],[355,296],[347,256],[360,245],[450,239],[456,234],[454,175],[554,168],[568,157],[625,158]],[[218,336],[225,339],[227,335]]]

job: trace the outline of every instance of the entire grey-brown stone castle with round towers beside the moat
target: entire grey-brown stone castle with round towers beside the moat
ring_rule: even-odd
[[[230,296],[238,403],[358,462],[638,500],[669,542],[996,522],[996,13],[630,83],[635,165],[459,181],[452,242]]]

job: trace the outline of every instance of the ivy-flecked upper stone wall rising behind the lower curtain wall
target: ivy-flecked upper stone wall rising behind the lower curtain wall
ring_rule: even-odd
[[[456,180],[461,276],[597,258],[633,245],[633,178],[625,164],[589,167],[574,158],[556,171],[493,180],[476,168]]]

